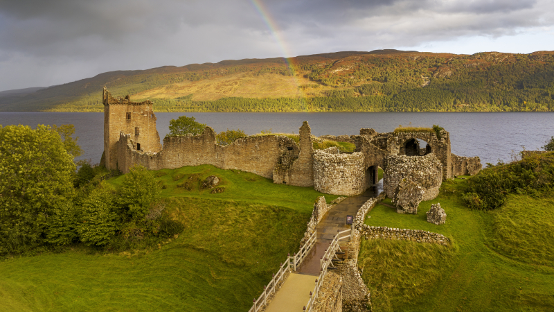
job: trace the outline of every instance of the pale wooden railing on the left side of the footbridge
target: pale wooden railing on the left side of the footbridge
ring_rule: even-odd
[[[296,254],[294,254],[293,256],[289,254],[287,257],[287,261],[285,261],[285,263],[281,263],[277,274],[274,274],[271,281],[269,281],[269,284],[267,284],[267,286],[264,286],[264,292],[260,295],[260,297],[258,297],[258,299],[252,300],[252,307],[248,312],[258,312],[260,311],[260,309],[262,309],[263,306],[267,305],[267,297],[269,297],[271,293],[276,293],[276,288],[280,281],[283,281],[283,276],[285,275],[285,273],[291,270],[296,271],[296,268],[301,265],[308,252],[312,250],[316,243],[316,234],[317,230],[314,231],[314,233],[300,248],[300,250],[296,252]]]

